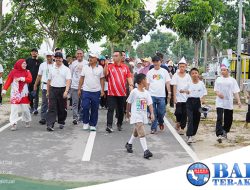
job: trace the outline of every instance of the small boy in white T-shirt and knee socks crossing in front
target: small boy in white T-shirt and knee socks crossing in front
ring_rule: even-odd
[[[141,146],[144,151],[144,158],[148,159],[153,154],[148,150],[144,124],[148,123],[147,106],[149,106],[150,119],[154,121],[153,101],[145,88],[147,87],[146,75],[140,73],[136,76],[138,87],[133,89],[127,99],[127,117],[130,118],[130,124],[135,124],[134,131],[130,140],[125,145],[129,153],[133,152],[132,144],[136,137],[140,138]]]

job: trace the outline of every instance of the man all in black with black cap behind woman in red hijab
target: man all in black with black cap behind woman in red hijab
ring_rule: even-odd
[[[27,70],[30,71],[32,75],[32,82],[29,84],[29,99],[30,99],[30,112],[34,113],[35,115],[38,114],[37,108],[38,108],[38,102],[39,102],[39,86],[36,91],[33,90],[34,84],[36,82],[36,77],[38,74],[39,66],[41,64],[41,60],[38,59],[38,50],[36,48],[33,48],[31,50],[31,57],[26,59],[27,63]]]

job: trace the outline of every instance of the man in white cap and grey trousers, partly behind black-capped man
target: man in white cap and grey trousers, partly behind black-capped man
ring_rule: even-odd
[[[47,81],[49,76],[49,70],[53,67],[53,55],[52,51],[46,52],[46,61],[43,62],[38,70],[38,75],[36,77],[36,82],[34,84],[34,91],[37,90],[38,84],[42,81],[41,89],[42,89],[42,106],[41,106],[41,120],[39,123],[41,125],[46,124],[46,116],[48,111],[48,97],[47,97]]]

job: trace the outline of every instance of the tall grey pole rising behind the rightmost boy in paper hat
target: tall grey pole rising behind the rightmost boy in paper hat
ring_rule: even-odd
[[[237,75],[236,80],[240,86],[241,80],[241,36],[242,36],[242,0],[239,3],[239,28],[238,28],[238,46],[237,46]]]

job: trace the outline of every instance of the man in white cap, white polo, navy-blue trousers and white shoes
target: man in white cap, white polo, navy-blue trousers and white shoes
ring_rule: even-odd
[[[104,95],[103,68],[97,61],[96,54],[89,55],[89,64],[83,66],[78,86],[78,95],[81,96],[82,102],[83,129],[90,128],[91,131],[96,131],[100,95]]]

